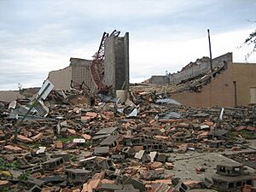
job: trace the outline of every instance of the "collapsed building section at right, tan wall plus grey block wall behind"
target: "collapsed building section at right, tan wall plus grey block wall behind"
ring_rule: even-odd
[[[212,60],[203,57],[167,76],[152,76],[150,84],[176,86],[170,95],[190,107],[233,107],[256,103],[256,64],[233,62],[232,53]]]

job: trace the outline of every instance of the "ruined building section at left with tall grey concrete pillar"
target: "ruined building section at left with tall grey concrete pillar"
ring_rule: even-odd
[[[80,86],[90,93],[107,89],[112,96],[116,96],[119,90],[125,91],[127,95],[129,33],[126,32],[124,37],[119,37],[117,31],[110,35],[104,32],[94,60],[71,58],[68,67],[49,72],[48,79],[55,85],[55,90],[70,90]]]

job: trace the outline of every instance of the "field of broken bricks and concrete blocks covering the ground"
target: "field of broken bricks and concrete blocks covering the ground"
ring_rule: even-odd
[[[253,169],[226,158],[203,177],[213,165],[196,162],[204,154],[249,153],[255,164],[255,110],[186,108],[139,90],[121,103],[44,84],[32,98],[0,102],[0,190],[255,191]],[[192,160],[189,172],[202,178],[179,177]]]

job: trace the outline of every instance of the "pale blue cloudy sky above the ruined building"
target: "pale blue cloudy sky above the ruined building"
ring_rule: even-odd
[[[102,32],[130,32],[131,82],[233,52],[256,29],[255,0],[0,0],[0,90],[41,86],[70,57],[91,59]],[[256,54],[250,57],[256,62]]]

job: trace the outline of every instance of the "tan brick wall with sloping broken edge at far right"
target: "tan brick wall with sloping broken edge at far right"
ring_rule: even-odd
[[[186,90],[172,94],[172,98],[196,108],[233,107],[256,103],[256,63],[233,62],[232,53],[221,55],[213,62],[217,66],[224,63],[224,72],[202,86],[200,92]]]

